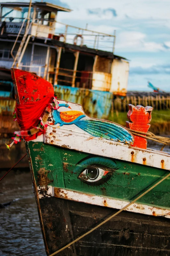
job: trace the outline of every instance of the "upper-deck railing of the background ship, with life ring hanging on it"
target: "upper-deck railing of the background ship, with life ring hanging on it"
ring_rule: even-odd
[[[24,34],[27,18],[0,17],[1,22],[6,21],[7,33]],[[114,53],[116,30],[112,34],[106,34],[77,26],[67,25],[49,19],[29,18],[31,26],[28,34],[41,38],[57,39],[64,43],[80,45],[97,50],[105,50]],[[0,25],[1,25],[0,22]],[[44,27],[45,26],[45,27]],[[22,27],[22,29],[20,29]],[[55,31],[55,32],[54,32]],[[50,36],[50,37],[49,37]]]

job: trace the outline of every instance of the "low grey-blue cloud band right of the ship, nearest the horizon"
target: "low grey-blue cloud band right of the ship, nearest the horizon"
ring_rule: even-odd
[[[170,75],[170,64],[168,65],[153,65],[148,68],[132,67],[130,68],[130,75],[157,75],[167,74]]]

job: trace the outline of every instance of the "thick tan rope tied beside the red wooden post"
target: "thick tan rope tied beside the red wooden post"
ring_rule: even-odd
[[[130,131],[132,134],[136,135],[136,136],[140,136],[142,138],[149,139],[149,140],[156,141],[156,142],[162,143],[164,145],[169,145],[170,146],[170,138],[166,138],[166,137],[162,137],[162,136],[156,136],[155,134],[153,134],[150,131],[143,132],[143,131],[132,130],[132,129],[129,129],[129,128],[126,128],[126,129],[128,131]],[[144,134],[144,135],[142,135],[142,134]]]

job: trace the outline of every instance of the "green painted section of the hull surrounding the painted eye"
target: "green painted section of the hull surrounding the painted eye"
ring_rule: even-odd
[[[131,201],[161,178],[166,170],[91,155],[84,152],[46,145],[42,142],[28,142],[36,186],[52,186],[90,193],[97,196]],[[79,178],[85,166],[100,161],[108,170],[109,179],[86,182]],[[103,180],[102,180],[103,179]],[[151,207],[170,208],[170,178],[165,179],[153,190],[139,199],[138,203]],[[154,214],[153,214],[154,215]]]

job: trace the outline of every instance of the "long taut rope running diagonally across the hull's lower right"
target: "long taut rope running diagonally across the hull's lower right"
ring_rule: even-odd
[[[132,202],[128,203],[127,205],[125,205],[122,209],[120,209],[117,213],[114,213],[113,215],[111,215],[110,217],[108,217],[106,220],[102,221],[100,224],[98,224],[96,227],[94,227],[93,229],[89,230],[88,232],[86,232],[85,234],[79,236],[77,239],[75,239],[74,241],[72,241],[71,243],[69,243],[68,245],[64,246],[63,248],[59,249],[58,251],[50,254],[49,256],[54,256],[57,253],[63,251],[65,248],[68,248],[69,246],[73,245],[74,243],[76,243],[77,241],[79,241],[81,238],[85,237],[86,235],[90,234],[92,231],[98,229],[100,226],[102,226],[103,224],[105,224],[107,221],[111,220],[113,217],[115,217],[116,215],[118,215],[119,213],[121,213],[122,211],[126,210],[131,204],[134,204],[137,200],[139,200],[142,196],[146,195],[150,190],[152,190],[153,188],[155,188],[157,185],[159,185],[163,180],[165,180],[166,178],[168,178],[170,176],[170,173],[168,173],[168,175],[166,175],[163,179],[161,179],[160,181],[158,181],[156,184],[154,184],[151,188],[149,188],[147,191],[145,191],[142,195],[138,196],[136,199],[134,199]]]

